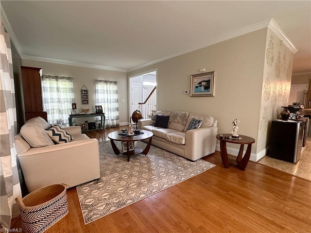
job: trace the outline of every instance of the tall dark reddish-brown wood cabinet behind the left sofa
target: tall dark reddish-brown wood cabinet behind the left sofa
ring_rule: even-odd
[[[48,120],[47,113],[43,112],[40,70],[36,67],[21,67],[25,120],[35,116]]]

